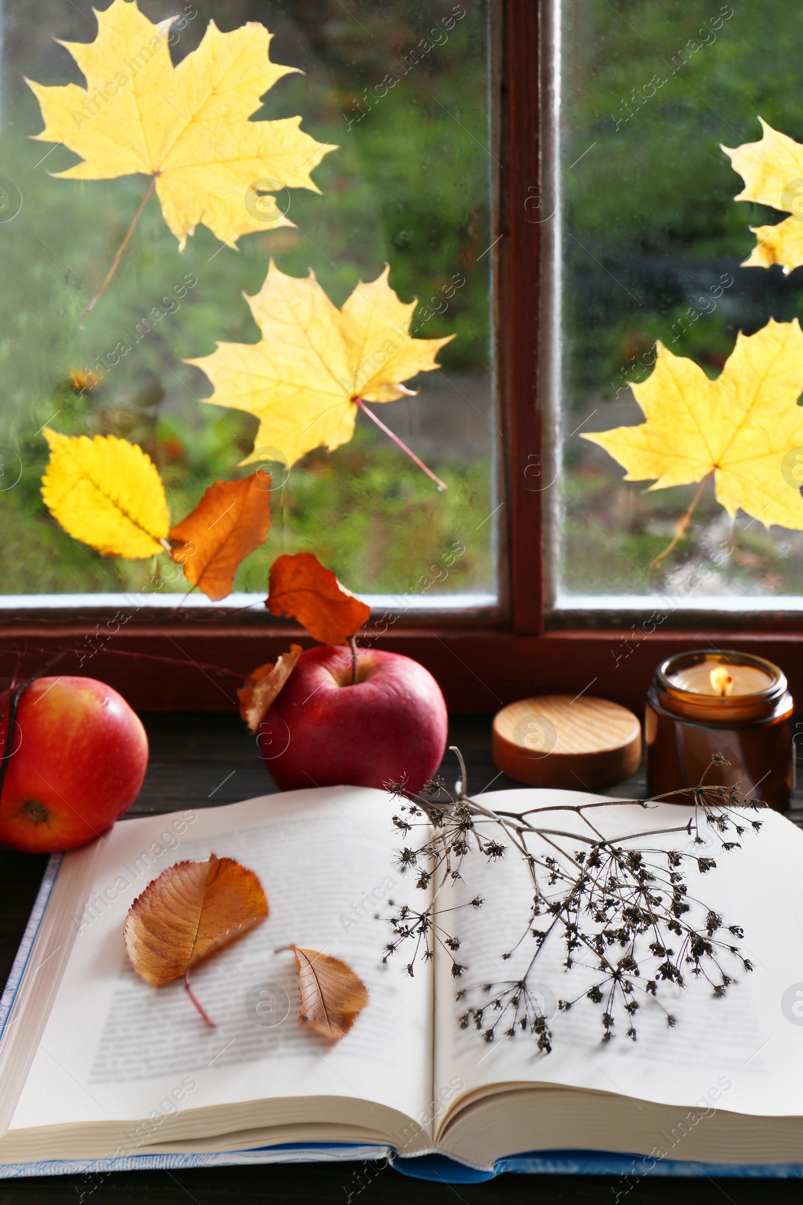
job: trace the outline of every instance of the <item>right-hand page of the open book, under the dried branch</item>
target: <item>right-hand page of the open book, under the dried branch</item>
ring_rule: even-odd
[[[590,798],[578,792],[522,789],[483,795],[483,803],[520,811]],[[685,805],[663,804],[649,811],[612,805],[591,815],[606,836],[624,836],[685,824],[691,813]],[[473,1024],[460,1029],[460,1015],[482,1000],[482,987],[473,989],[515,981],[536,951],[535,940],[527,935],[510,959],[502,959],[526,928],[533,897],[521,856],[506,841],[508,848],[498,863],[489,864],[479,854],[466,859],[465,881],[445,890],[439,903],[443,909],[454,907],[477,893],[485,903],[479,910],[460,909],[443,921],[460,937],[459,957],[468,969],[455,981],[448,957],[438,950],[435,1083],[448,1083],[457,1075],[465,1083],[464,1098],[501,1084],[548,1083],[686,1106],[705,1099],[712,1089],[718,1109],[803,1115],[803,833],[775,812],[745,815],[748,822],[762,822],[760,833],[748,828],[740,839],[742,848],[730,853],[722,852],[715,840],[707,844],[702,852],[716,862],[707,874],[701,875],[689,862],[684,862],[683,870],[690,897],[721,913],[725,925],[743,927],[744,940],[728,940],[740,947],[755,970],[746,974],[737,959],[725,954],[722,969],[736,982],[724,999],[714,997],[709,983],[687,974],[689,968],[684,968],[683,991],[660,982],[659,999],[677,1018],[674,1028],[667,1025],[657,1004],[649,997],[645,1001],[639,993],[636,1042],[624,1035],[627,1015],[621,1007],[616,1010],[614,1039],[602,1042],[604,1006],[584,997],[601,977],[598,963],[590,953],[575,951],[575,965],[567,971],[565,944],[555,940],[557,935],[544,942],[530,980],[550,1018],[551,1053],[541,1054],[532,1034],[516,1031],[510,1040],[500,1029],[496,1040],[488,1044]],[[544,821],[554,828],[579,831],[571,812],[549,813]],[[691,841],[685,833],[675,833],[650,837],[645,844],[701,852]],[[569,852],[579,847],[572,841],[563,845]],[[537,848],[532,846],[533,852]],[[542,852],[555,851],[544,844]],[[535,925],[545,928],[543,918]],[[616,956],[620,947],[610,948]],[[644,978],[654,975],[662,960],[649,953],[648,959]],[[455,1000],[457,988],[468,989],[461,1003]],[[556,1010],[559,1000],[578,997],[569,1012]]]

